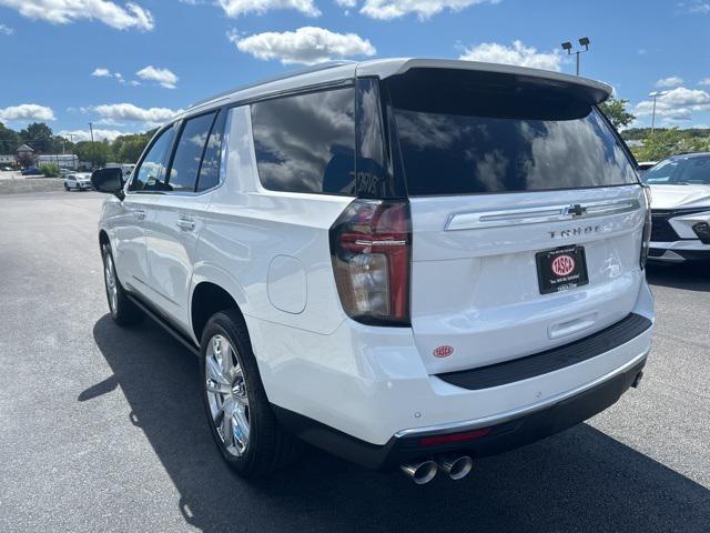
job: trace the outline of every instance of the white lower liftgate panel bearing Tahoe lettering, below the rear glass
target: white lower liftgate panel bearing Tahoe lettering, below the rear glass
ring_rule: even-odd
[[[643,275],[638,185],[584,191],[442,197],[410,200],[412,326],[430,373],[494,364],[589,335],[629,314]],[[557,204],[636,201],[606,217],[447,231],[455,213],[525,210]],[[544,202],[542,204],[540,202]],[[551,232],[596,229],[552,238]],[[557,233],[555,233],[557,235]],[[585,247],[589,284],[540,294],[536,252]],[[515,331],[511,335],[510,332]],[[437,346],[454,353],[434,356]]]

